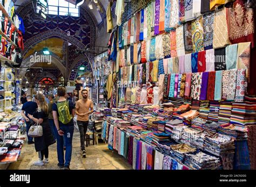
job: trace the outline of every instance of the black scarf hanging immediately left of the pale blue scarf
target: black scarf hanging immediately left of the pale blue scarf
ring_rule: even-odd
[[[218,70],[226,70],[226,49],[224,48],[219,48],[214,50],[214,56],[215,56],[215,71]]]

